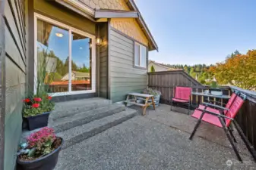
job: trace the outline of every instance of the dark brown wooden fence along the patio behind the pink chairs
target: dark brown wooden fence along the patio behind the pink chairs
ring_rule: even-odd
[[[148,73],[148,87],[154,88],[161,91],[162,96],[160,103],[170,104],[170,99],[173,95],[174,88],[176,86],[191,87],[192,91],[202,92],[209,88],[205,85],[201,85],[200,82],[193,79],[183,70],[166,71],[166,72],[155,72]],[[256,147],[256,92],[244,90],[237,87],[223,86],[220,87],[223,90],[223,94],[231,95],[232,91],[240,91],[247,96],[245,104],[242,109],[239,110],[236,121],[244,131],[246,137],[251,144]],[[201,96],[191,95],[192,104],[194,107],[198,106],[203,100],[210,101],[214,104],[223,105],[227,103],[227,100],[220,100],[214,97],[202,98]]]

